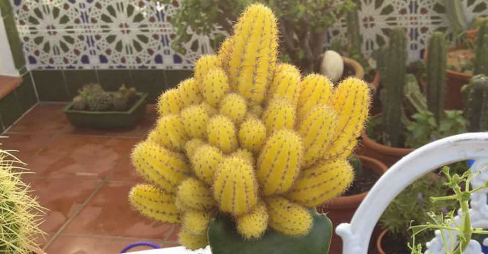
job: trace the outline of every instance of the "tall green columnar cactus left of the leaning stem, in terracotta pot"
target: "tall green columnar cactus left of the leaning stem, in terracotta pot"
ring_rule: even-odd
[[[407,36],[402,28],[392,30],[388,49],[388,67],[386,68],[386,103],[383,105],[383,124],[387,134],[387,143],[393,147],[402,145],[403,89],[405,86]]]

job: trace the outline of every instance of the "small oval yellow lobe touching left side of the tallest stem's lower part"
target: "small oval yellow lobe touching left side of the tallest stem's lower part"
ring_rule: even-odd
[[[202,95],[212,107],[217,107],[229,90],[229,80],[222,69],[210,70],[203,79]]]

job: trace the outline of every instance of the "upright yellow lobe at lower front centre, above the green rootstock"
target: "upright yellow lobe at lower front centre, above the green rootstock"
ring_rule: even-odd
[[[214,198],[223,212],[242,215],[258,202],[258,183],[254,169],[238,158],[225,158],[214,177]]]

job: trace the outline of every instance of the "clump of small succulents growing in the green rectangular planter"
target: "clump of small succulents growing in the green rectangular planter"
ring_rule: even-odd
[[[125,85],[122,85],[117,92],[109,93],[99,84],[86,84],[79,91],[79,95],[73,98],[73,108],[90,111],[125,111],[130,102],[136,98],[136,93],[135,88],[128,89]]]

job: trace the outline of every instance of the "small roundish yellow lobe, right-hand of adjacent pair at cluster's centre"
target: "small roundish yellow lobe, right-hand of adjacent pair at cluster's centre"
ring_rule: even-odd
[[[266,141],[266,126],[262,121],[248,118],[240,125],[239,143],[243,148],[257,153]]]

